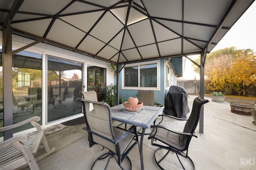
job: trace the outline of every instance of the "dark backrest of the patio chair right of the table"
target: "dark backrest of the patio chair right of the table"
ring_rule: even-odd
[[[191,111],[190,116],[188,117],[188,120],[185,124],[183,132],[194,133],[196,126],[198,124],[198,121],[199,121],[201,107],[203,104],[206,104],[208,102],[209,102],[208,100],[205,100],[205,99],[201,98],[200,96],[198,96],[197,98],[194,99],[192,111]]]

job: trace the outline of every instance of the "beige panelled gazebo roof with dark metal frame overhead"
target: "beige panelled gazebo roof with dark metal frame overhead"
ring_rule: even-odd
[[[38,42],[124,64],[209,53],[253,2],[1,0],[0,23]],[[181,76],[179,58],[173,65]]]

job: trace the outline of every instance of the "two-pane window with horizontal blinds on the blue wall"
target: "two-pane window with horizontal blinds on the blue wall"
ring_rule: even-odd
[[[158,88],[158,62],[124,67],[123,88]]]

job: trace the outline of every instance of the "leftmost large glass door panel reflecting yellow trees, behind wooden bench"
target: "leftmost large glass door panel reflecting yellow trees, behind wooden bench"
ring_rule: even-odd
[[[13,124],[33,116],[42,125],[42,54],[21,51],[12,56]],[[26,124],[14,133],[32,128]]]

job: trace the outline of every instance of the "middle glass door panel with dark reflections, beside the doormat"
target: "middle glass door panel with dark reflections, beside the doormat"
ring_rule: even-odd
[[[47,123],[82,113],[82,63],[48,56]]]

